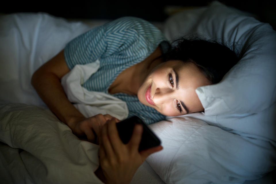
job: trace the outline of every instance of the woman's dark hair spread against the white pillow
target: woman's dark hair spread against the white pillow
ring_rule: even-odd
[[[212,84],[220,82],[239,60],[234,51],[215,41],[181,38],[175,42],[177,45],[164,54],[165,61],[192,62]]]

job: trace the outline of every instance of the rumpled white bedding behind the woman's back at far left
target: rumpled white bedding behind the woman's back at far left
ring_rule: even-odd
[[[46,106],[30,83],[32,74],[90,27],[46,13],[1,15],[0,25],[0,103]]]

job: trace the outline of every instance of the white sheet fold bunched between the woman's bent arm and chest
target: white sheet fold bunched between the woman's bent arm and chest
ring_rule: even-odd
[[[120,120],[127,118],[129,110],[124,101],[104,92],[88,91],[82,86],[99,69],[99,66],[99,60],[85,65],[76,65],[62,77],[62,87],[69,101],[74,103],[85,117],[110,114]]]

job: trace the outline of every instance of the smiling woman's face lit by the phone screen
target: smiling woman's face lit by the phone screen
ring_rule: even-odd
[[[195,64],[172,60],[152,70],[138,89],[137,96],[142,104],[161,114],[179,116],[204,111],[196,89],[210,84]]]

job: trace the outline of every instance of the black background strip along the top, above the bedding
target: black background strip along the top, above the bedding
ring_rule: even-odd
[[[261,22],[270,23],[276,30],[275,0],[219,0],[225,5],[236,7],[255,15]],[[0,7],[1,14],[16,12],[47,12],[68,19],[116,19],[122,16],[136,16],[148,21],[163,22],[169,15],[168,7],[179,8],[206,6],[212,1],[37,1],[6,2]]]

